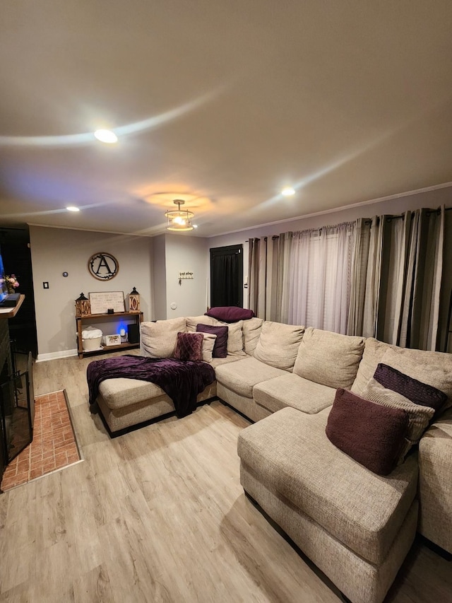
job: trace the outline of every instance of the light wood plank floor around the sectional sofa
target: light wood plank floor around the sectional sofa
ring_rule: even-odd
[[[0,602],[341,600],[244,496],[246,419],[213,402],[111,440],[91,360],[35,365],[36,395],[66,389],[84,460],[0,495]],[[452,602],[452,563],[416,541],[386,601]]]

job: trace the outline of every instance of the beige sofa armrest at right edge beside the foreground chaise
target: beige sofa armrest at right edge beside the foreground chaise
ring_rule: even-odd
[[[419,443],[420,533],[452,554],[452,409]]]

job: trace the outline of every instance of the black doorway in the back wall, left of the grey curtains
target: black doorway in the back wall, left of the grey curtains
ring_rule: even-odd
[[[210,250],[210,307],[243,308],[243,245]]]

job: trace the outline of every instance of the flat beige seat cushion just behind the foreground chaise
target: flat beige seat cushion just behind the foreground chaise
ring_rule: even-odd
[[[270,412],[292,406],[307,414],[314,414],[331,406],[335,393],[333,387],[286,373],[255,385],[253,397],[257,404]]]

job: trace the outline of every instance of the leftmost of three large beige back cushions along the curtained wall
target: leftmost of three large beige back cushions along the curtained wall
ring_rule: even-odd
[[[254,358],[275,368],[292,370],[304,327],[266,320],[254,350]]]

